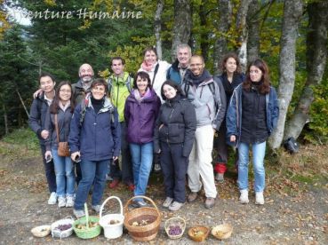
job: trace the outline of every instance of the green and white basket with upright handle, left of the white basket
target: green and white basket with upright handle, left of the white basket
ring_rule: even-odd
[[[76,235],[82,239],[90,239],[99,236],[101,233],[101,226],[99,225],[99,217],[89,217],[88,209],[86,204],[84,204],[85,216],[76,221],[73,224],[73,229]],[[93,223],[98,223],[96,226],[89,227],[89,221]],[[78,229],[77,225],[86,225],[85,229]]]

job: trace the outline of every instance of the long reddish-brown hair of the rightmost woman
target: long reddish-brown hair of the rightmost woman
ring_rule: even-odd
[[[255,59],[252,61],[248,67],[246,72],[246,80],[243,83],[243,88],[246,91],[250,91],[252,80],[250,77],[250,68],[251,67],[258,67],[260,71],[262,72],[262,78],[260,79],[261,83],[259,86],[259,91],[261,94],[267,94],[270,91],[270,80],[268,76],[268,65],[264,60],[262,59]]]

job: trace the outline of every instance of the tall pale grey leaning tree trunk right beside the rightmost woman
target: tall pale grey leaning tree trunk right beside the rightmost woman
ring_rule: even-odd
[[[295,52],[298,24],[303,9],[302,0],[285,0],[284,20],[280,43],[280,78],[278,88],[279,119],[277,128],[269,138],[269,146],[278,148],[284,137],[284,123],[292,99],[295,83]]]

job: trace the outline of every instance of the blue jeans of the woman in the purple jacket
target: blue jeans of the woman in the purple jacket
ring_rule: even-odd
[[[134,195],[145,195],[153,162],[153,142],[146,144],[130,143],[134,178]],[[136,200],[138,201],[138,200]]]

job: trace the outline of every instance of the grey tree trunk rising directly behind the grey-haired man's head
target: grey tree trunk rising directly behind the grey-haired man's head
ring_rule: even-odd
[[[189,0],[174,0],[174,23],[172,36],[172,60],[176,58],[176,48],[180,43],[188,43],[191,30]]]

